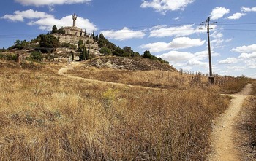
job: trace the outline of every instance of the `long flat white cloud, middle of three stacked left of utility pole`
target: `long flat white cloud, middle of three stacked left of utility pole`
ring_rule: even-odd
[[[189,37],[178,37],[173,39],[172,42],[155,42],[150,44],[143,44],[140,46],[142,49],[149,50],[151,52],[162,52],[173,49],[185,49],[189,47],[198,47],[205,43],[205,40],[190,39]]]

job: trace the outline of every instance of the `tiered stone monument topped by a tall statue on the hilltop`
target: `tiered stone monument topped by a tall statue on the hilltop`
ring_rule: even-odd
[[[89,42],[90,47],[97,49],[98,44],[97,42],[94,42],[94,39],[90,38],[91,34],[87,34],[86,30],[75,26],[77,15],[72,15],[72,19],[72,27],[62,27],[61,30],[64,31],[64,33],[54,33],[53,35],[59,38],[59,42],[61,44],[67,43],[78,47],[78,41],[83,40],[84,43]],[[86,46],[88,46],[89,44],[87,44]]]

